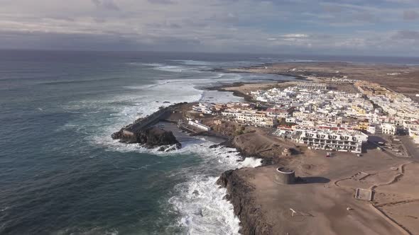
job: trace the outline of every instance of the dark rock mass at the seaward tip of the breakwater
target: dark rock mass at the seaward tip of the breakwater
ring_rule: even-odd
[[[115,132],[111,135],[112,139],[119,139],[125,143],[138,143],[142,144],[147,148],[163,147],[160,151],[167,151],[173,149],[179,149],[182,147],[180,142],[173,135],[173,132],[160,129],[158,127],[148,127],[137,132],[129,132],[124,128]],[[165,148],[166,147],[166,148]]]

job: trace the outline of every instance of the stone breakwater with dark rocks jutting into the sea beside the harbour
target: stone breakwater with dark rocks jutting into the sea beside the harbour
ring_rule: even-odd
[[[185,104],[186,103],[177,103],[165,108],[160,108],[156,113],[139,118],[134,123],[122,127],[118,132],[111,134],[111,137],[112,139],[119,139],[120,142],[142,144],[146,148],[160,147],[160,151],[180,149],[182,145],[173,135],[173,132],[158,127],[151,127],[151,125],[154,125],[161,120],[165,120],[171,114],[177,112],[181,105]]]

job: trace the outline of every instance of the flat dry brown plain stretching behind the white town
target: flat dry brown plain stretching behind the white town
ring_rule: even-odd
[[[295,71],[293,71],[295,69]],[[234,72],[286,74],[290,76],[347,76],[348,79],[372,81],[415,98],[419,93],[419,67],[388,64],[352,64],[340,62],[281,63],[229,69]],[[337,73],[339,71],[339,73]],[[398,73],[397,75],[388,75]]]

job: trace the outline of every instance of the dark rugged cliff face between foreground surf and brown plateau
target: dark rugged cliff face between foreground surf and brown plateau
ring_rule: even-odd
[[[237,170],[222,173],[217,184],[227,188],[224,199],[234,206],[234,214],[240,219],[241,234],[272,234],[272,226],[266,222],[259,205],[252,197],[254,187],[241,179]]]

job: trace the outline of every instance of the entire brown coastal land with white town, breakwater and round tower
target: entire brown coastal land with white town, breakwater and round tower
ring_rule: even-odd
[[[225,71],[298,79],[215,86],[244,102],[170,105],[112,137],[171,151],[180,143],[156,124],[174,122],[191,135],[226,139],[213,147],[262,159],[217,181],[241,234],[419,232],[419,212],[410,209],[419,202],[419,148],[408,136],[419,126],[418,67],[319,62]],[[290,183],[280,168],[293,173]]]

